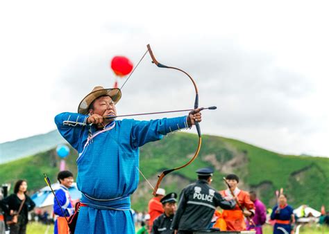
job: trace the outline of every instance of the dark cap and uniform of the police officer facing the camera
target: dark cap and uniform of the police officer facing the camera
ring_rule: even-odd
[[[171,192],[165,197],[162,197],[160,202],[166,204],[167,202],[176,202],[177,194]],[[165,213],[157,217],[153,222],[152,234],[172,234],[174,229],[171,228],[171,223],[174,219],[174,215],[167,217]]]

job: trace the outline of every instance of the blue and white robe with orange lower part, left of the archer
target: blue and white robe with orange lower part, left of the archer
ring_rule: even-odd
[[[58,202],[56,201],[56,198],[53,198],[53,213],[56,215],[56,221],[53,233],[58,234],[58,230],[68,229],[67,222],[65,219],[63,219],[63,222],[58,222],[58,219],[60,217],[64,217],[62,211],[65,213],[66,217],[69,217],[70,215],[74,214],[74,207],[71,204],[71,197],[69,195],[69,190],[65,187],[60,185],[60,188],[56,191],[56,197],[60,203],[60,206],[58,205]],[[60,208],[62,207],[62,209]],[[64,225],[65,227],[59,227],[58,225]],[[68,233],[68,232],[67,232]]]

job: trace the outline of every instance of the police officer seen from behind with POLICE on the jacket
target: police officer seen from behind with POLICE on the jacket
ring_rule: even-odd
[[[235,200],[226,201],[217,190],[210,187],[213,172],[211,168],[197,170],[198,181],[181,192],[178,210],[171,225],[178,233],[208,229],[217,206],[226,210],[235,208]]]

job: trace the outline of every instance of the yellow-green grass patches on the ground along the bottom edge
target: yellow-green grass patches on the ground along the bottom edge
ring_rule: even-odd
[[[48,234],[53,233],[53,225],[47,226],[36,222],[31,222],[28,224],[27,234],[47,234],[47,233]],[[272,234],[272,233],[273,233],[273,227],[270,225],[264,225],[263,234]],[[317,226],[316,224],[312,224],[310,226],[302,226],[299,233],[300,234],[328,234],[329,227]]]

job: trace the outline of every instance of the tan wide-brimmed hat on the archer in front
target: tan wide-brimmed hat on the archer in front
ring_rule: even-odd
[[[92,89],[92,92],[89,93],[83,100],[80,102],[78,106],[79,114],[89,114],[89,106],[92,104],[94,100],[99,98],[100,96],[110,96],[113,102],[117,104],[121,98],[121,90],[120,89],[104,89],[101,86],[96,86]]]

